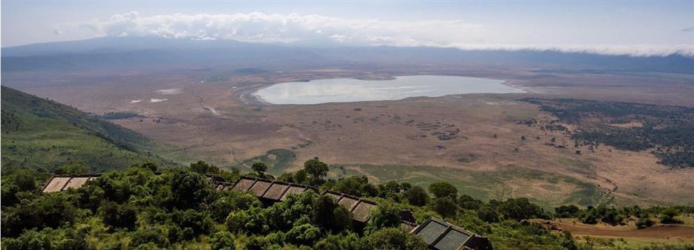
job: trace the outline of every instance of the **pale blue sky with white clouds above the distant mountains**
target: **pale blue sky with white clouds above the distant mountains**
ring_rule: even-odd
[[[1,46],[155,36],[694,56],[694,1],[1,1]]]

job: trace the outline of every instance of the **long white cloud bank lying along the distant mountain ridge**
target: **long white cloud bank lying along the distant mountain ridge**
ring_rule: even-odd
[[[56,34],[87,30],[98,36],[156,36],[192,40],[239,40],[244,42],[338,42],[350,45],[390,45],[398,47],[454,47],[473,50],[552,50],[609,55],[666,56],[680,53],[694,56],[693,44],[493,44],[492,28],[459,19],[385,21],[348,19],[322,15],[236,14],[153,15],[137,12],[113,15],[108,20],[56,26]]]

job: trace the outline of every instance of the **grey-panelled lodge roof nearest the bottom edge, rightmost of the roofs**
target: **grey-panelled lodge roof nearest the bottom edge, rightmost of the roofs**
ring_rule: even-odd
[[[412,233],[435,250],[492,249],[489,239],[434,217],[414,228]]]

